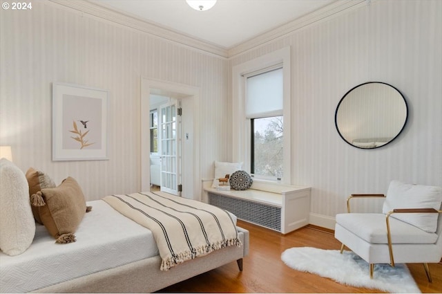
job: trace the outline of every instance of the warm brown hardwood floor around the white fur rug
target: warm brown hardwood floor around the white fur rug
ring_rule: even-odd
[[[332,232],[305,227],[287,235],[238,221],[250,232],[250,252],[240,272],[236,262],[164,288],[162,292],[192,293],[380,293],[374,289],[343,286],[332,279],[302,273],[286,266],[281,253],[291,247],[339,249]],[[442,293],[442,264],[430,264],[433,282],[427,281],[422,264],[408,264],[423,293]],[[368,273],[367,273],[368,275]]]

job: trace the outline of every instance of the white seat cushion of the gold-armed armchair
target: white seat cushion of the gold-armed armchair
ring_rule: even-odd
[[[336,223],[369,243],[387,244],[387,224],[381,213],[343,213]],[[425,232],[410,223],[390,217],[393,244],[434,244],[437,234]]]

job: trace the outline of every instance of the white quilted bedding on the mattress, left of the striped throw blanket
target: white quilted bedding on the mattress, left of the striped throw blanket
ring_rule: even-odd
[[[159,254],[150,230],[102,200],[87,205],[93,210],[81,221],[75,243],[55,244],[46,228],[37,224],[28,250],[14,257],[0,252],[2,293],[33,291]]]

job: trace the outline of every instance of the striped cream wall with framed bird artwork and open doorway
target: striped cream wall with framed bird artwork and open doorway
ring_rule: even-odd
[[[0,48],[0,145],[12,145],[23,172],[35,167],[56,183],[73,176],[88,200],[139,191],[142,76],[201,89],[205,176],[227,154],[227,132],[213,131],[225,130],[223,58],[45,0],[0,10]],[[52,82],[109,91],[109,160],[52,161]]]

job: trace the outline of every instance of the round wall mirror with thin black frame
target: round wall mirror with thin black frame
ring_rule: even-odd
[[[367,82],[345,93],[334,120],[339,136],[349,145],[374,149],[401,134],[407,116],[407,102],[398,89],[383,82]]]

